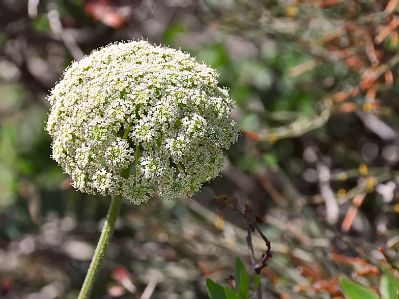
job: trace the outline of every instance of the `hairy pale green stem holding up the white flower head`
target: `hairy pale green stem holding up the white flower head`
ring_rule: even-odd
[[[129,167],[121,170],[121,176],[124,178],[129,177]],[[80,289],[78,299],[88,299],[93,289],[94,281],[96,280],[98,272],[100,271],[102,260],[104,259],[109,241],[111,240],[113,228],[117,222],[122,199],[123,197],[120,194],[112,197],[107,219],[105,220],[104,226],[102,228],[100,240],[97,243],[96,251],[94,252],[88,273],[84,279],[82,288]]]

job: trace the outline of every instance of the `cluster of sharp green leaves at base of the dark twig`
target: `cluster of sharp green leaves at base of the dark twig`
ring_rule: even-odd
[[[261,279],[259,275],[254,275],[253,280],[255,282],[255,287],[250,291],[249,286],[249,275],[245,270],[245,266],[241,259],[237,257],[236,259],[236,269],[235,269],[235,291],[229,287],[222,287],[217,282],[211,279],[207,279],[207,290],[210,299],[249,299],[258,290]]]

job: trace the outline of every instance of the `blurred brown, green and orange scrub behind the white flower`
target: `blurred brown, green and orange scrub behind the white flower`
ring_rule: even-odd
[[[50,159],[46,95],[74,59],[141,38],[216,68],[241,136],[193,198],[123,204],[92,298],[208,298],[236,257],[250,271],[221,194],[264,220],[266,298],[343,298],[342,276],[378,288],[399,261],[397,3],[0,0],[0,297],[77,297],[109,198]]]

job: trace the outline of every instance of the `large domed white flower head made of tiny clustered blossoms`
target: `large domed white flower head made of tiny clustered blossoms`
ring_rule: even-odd
[[[191,196],[219,173],[222,149],[237,140],[234,102],[217,76],[189,54],[147,41],[94,51],[48,97],[52,157],[89,194],[136,204],[154,194]]]

